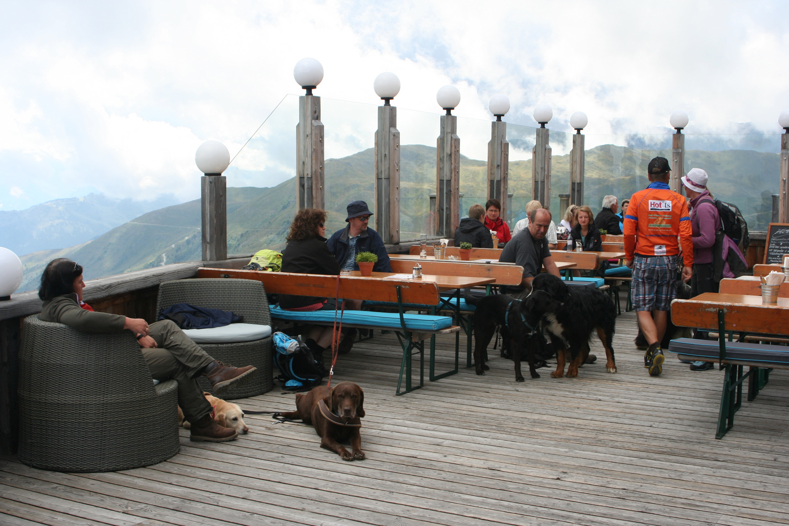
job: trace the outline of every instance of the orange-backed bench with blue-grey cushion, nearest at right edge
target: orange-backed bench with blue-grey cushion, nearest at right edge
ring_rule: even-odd
[[[715,438],[722,438],[734,425],[735,412],[742,406],[743,382],[748,379],[747,400],[752,401],[768,382],[769,371],[773,368],[789,369],[789,347],[732,341],[733,332],[759,326],[765,331],[780,334],[780,330],[786,330],[789,313],[781,311],[765,315],[765,312],[740,304],[712,308],[701,301],[674,300],[671,302],[671,319],[682,323],[682,326],[718,330],[718,341],[678,338],[671,340],[668,351],[677,353],[681,360],[717,362],[724,367],[715,435]],[[728,334],[728,341],[725,334]],[[743,367],[749,367],[745,374]]]

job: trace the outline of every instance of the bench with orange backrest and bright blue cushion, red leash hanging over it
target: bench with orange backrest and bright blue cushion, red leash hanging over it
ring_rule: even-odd
[[[388,278],[360,278],[322,274],[293,274],[287,272],[261,272],[257,270],[229,270],[200,268],[197,278],[239,278],[263,282],[270,294],[294,296],[340,297],[348,300],[385,301],[398,305],[396,313],[375,311],[345,311],[342,326],[361,329],[394,330],[402,347],[400,374],[395,394],[405,394],[424,386],[424,340],[440,334],[457,333],[459,326],[451,324],[447,316],[406,314],[404,304],[438,304],[439,289],[435,283]],[[339,315],[337,322],[339,323]],[[335,323],[335,311],[284,311],[271,308],[271,318],[280,325],[323,325]],[[440,379],[458,372],[458,345],[455,345],[454,370],[432,377]],[[411,362],[413,353],[420,355],[419,385],[412,386]],[[435,352],[430,356],[431,371],[435,367]],[[403,376],[406,389],[401,390]]]

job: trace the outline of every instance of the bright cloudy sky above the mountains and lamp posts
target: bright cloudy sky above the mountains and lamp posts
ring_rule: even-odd
[[[293,66],[305,57],[325,71],[316,95],[327,157],[372,146],[380,102],[372,80],[383,71],[402,82],[403,144],[435,144],[436,90],[456,85],[462,148],[477,159],[496,93],[510,97],[510,123],[533,125],[544,102],[554,110],[549,128],[570,131],[570,114],[584,111],[589,140],[667,133],[675,110],[690,115],[689,134],[777,137],[777,116],[789,108],[785,2],[4,0],[0,8],[0,210],[89,192],[194,199],[196,147],[220,140],[235,155],[278,104],[260,132],[270,151],[241,155],[237,166],[262,170],[244,184],[279,183],[293,170],[296,99],[286,95],[298,94]]]

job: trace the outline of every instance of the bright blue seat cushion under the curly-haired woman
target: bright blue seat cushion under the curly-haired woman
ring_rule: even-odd
[[[335,311],[286,311],[279,308],[278,305],[271,308],[271,317],[297,322],[331,323],[335,321]],[[441,330],[452,326],[452,319],[449,316],[405,314],[403,318],[406,320],[406,328],[409,330]],[[339,321],[339,315],[337,315],[337,320]],[[397,312],[345,311],[345,314],[342,315],[342,323],[399,329],[400,315]]]

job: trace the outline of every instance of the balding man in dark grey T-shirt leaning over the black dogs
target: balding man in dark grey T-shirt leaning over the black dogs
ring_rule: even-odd
[[[529,217],[529,228],[515,234],[501,251],[499,261],[523,267],[521,285],[508,287],[505,291],[511,297],[522,299],[528,296],[532,290],[532,280],[540,274],[543,266],[550,274],[559,277],[559,269],[551,256],[548,240],[545,239],[551,223],[550,211],[544,208],[534,209]]]

